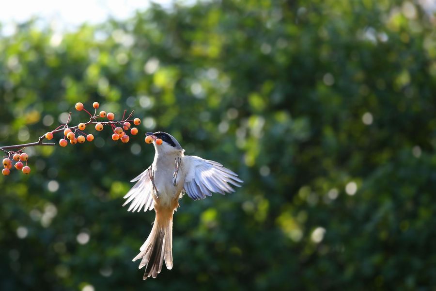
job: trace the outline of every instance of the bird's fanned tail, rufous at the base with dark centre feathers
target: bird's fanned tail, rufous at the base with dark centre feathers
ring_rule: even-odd
[[[140,253],[133,260],[141,259],[139,268],[145,266],[143,279],[156,278],[162,270],[163,260],[168,270],[172,269],[172,214],[171,211],[156,211],[155,223]]]

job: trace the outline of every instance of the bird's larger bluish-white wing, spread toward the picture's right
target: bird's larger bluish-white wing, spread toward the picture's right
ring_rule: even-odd
[[[184,156],[182,166],[186,171],[183,188],[194,200],[206,198],[212,193],[232,193],[232,186],[241,187],[240,183],[243,183],[236,173],[224,168],[219,162]]]

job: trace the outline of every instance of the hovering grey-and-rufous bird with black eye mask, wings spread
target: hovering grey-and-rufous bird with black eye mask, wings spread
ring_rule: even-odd
[[[147,240],[133,261],[141,259],[145,266],[143,279],[156,278],[163,261],[172,269],[172,220],[179,207],[179,199],[187,194],[193,200],[212,193],[226,194],[241,187],[243,181],[232,170],[215,161],[185,155],[185,150],[169,133],[147,132],[155,147],[153,163],[132,179],[136,184],[125,194],[128,211],[155,210],[156,217]],[[159,140],[160,139],[160,140]]]

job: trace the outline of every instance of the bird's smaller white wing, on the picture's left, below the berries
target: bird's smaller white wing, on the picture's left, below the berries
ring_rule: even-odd
[[[150,166],[151,167],[151,166]],[[144,207],[144,211],[152,210],[154,207],[153,203],[153,183],[150,180],[150,176],[148,175],[148,167],[147,170],[142,172],[138,177],[132,179],[130,182],[136,182],[136,184],[132,187],[132,189],[125,194],[123,198],[127,199],[123,206],[130,204],[129,209],[127,211],[137,211],[138,212]]]

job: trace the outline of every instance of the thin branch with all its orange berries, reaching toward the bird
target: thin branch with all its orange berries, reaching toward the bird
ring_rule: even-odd
[[[106,114],[105,111],[100,111],[100,113],[97,114],[97,109],[100,107],[98,102],[93,103],[94,108],[94,114],[89,113],[83,106],[81,102],[78,102],[76,104],[76,110],[77,111],[85,111],[90,116],[90,119],[88,122],[85,123],[79,123],[76,126],[68,126],[68,123],[71,119],[71,112],[68,116],[68,120],[65,124],[60,125],[56,129],[47,132],[43,136],[39,137],[39,140],[34,143],[28,143],[28,144],[22,144],[22,145],[16,145],[16,146],[0,146],[0,150],[4,151],[7,156],[3,159],[3,166],[4,169],[2,170],[2,174],[7,176],[10,174],[10,169],[12,168],[12,163],[15,161],[15,167],[18,170],[22,170],[24,174],[29,174],[31,169],[27,165],[27,161],[29,159],[29,156],[23,152],[23,149],[26,146],[55,146],[56,144],[53,143],[43,143],[44,139],[52,140],[54,138],[54,135],[58,132],[63,132],[63,138],[59,140],[59,145],[62,147],[65,147],[68,145],[68,141],[71,145],[76,145],[77,143],[83,144],[85,141],[92,142],[94,139],[93,134],[89,133],[86,134],[84,130],[88,125],[95,125],[95,129],[97,131],[102,131],[103,128],[107,125],[110,125],[113,134],[112,139],[114,141],[121,140],[123,143],[127,143],[129,141],[129,136],[127,135],[127,131],[130,131],[130,134],[136,135],[138,134],[138,129],[135,127],[131,127],[131,122],[133,122],[134,125],[140,125],[141,120],[139,118],[135,118],[133,120],[129,120],[129,118],[132,118],[134,111],[132,111],[127,118],[125,118],[126,110],[124,111],[123,117],[120,121],[115,121],[115,114],[109,112]],[[107,118],[109,121],[102,121],[101,118]],[[100,120],[97,120],[100,119]],[[21,148],[17,151],[9,150],[9,149],[17,149]],[[24,165],[24,162],[26,165]]]

